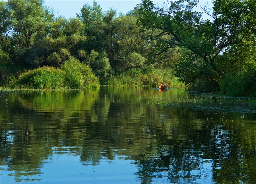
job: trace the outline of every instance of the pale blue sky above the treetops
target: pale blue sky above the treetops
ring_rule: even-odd
[[[141,3],[140,0],[96,0],[96,2],[100,4],[103,12],[112,7],[117,10],[117,13],[123,12],[124,14]],[[207,0],[200,0],[199,5],[204,5],[207,2]],[[75,17],[76,13],[80,13],[82,6],[88,3],[92,6],[93,0],[45,0],[45,5],[53,8],[55,12],[59,11],[58,15],[66,18]],[[164,0],[153,0],[153,3],[162,5]]]

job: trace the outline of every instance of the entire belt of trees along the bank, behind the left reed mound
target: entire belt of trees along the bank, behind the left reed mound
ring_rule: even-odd
[[[1,82],[76,60],[91,68],[101,85],[177,84],[178,79],[187,89],[255,96],[243,80],[255,78],[256,1],[213,0],[201,11],[198,3],[179,0],[159,7],[143,0],[117,15],[112,8],[102,12],[94,1],[66,19],[42,0],[0,1]]]

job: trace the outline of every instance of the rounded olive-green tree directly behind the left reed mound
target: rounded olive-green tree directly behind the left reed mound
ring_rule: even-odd
[[[71,57],[86,57],[83,46],[87,37],[83,35],[84,24],[79,18],[58,17],[49,24],[49,35],[42,39],[36,48],[40,48],[41,65],[61,66]],[[36,50],[35,50],[36,51]],[[33,58],[31,58],[33,59]]]

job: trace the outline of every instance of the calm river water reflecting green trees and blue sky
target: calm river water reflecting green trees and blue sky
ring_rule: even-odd
[[[256,183],[255,115],[149,101],[188,95],[0,91],[0,183]]]

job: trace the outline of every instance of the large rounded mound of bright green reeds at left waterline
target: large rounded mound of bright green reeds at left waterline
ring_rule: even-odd
[[[15,78],[7,80],[5,87],[11,89],[82,89],[100,86],[92,69],[71,59],[61,68],[44,66],[26,71]]]

